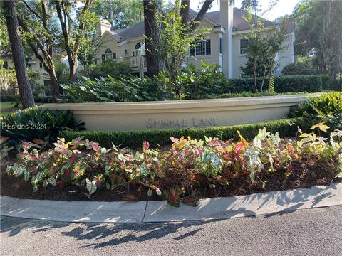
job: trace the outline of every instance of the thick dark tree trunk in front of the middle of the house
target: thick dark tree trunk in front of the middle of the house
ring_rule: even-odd
[[[160,0],[145,0],[144,1],[144,27],[145,27],[145,49],[146,49],[146,66],[147,77],[152,78],[162,70],[162,63],[155,55],[155,43],[158,41],[157,24],[155,14],[160,14],[162,3]]]

